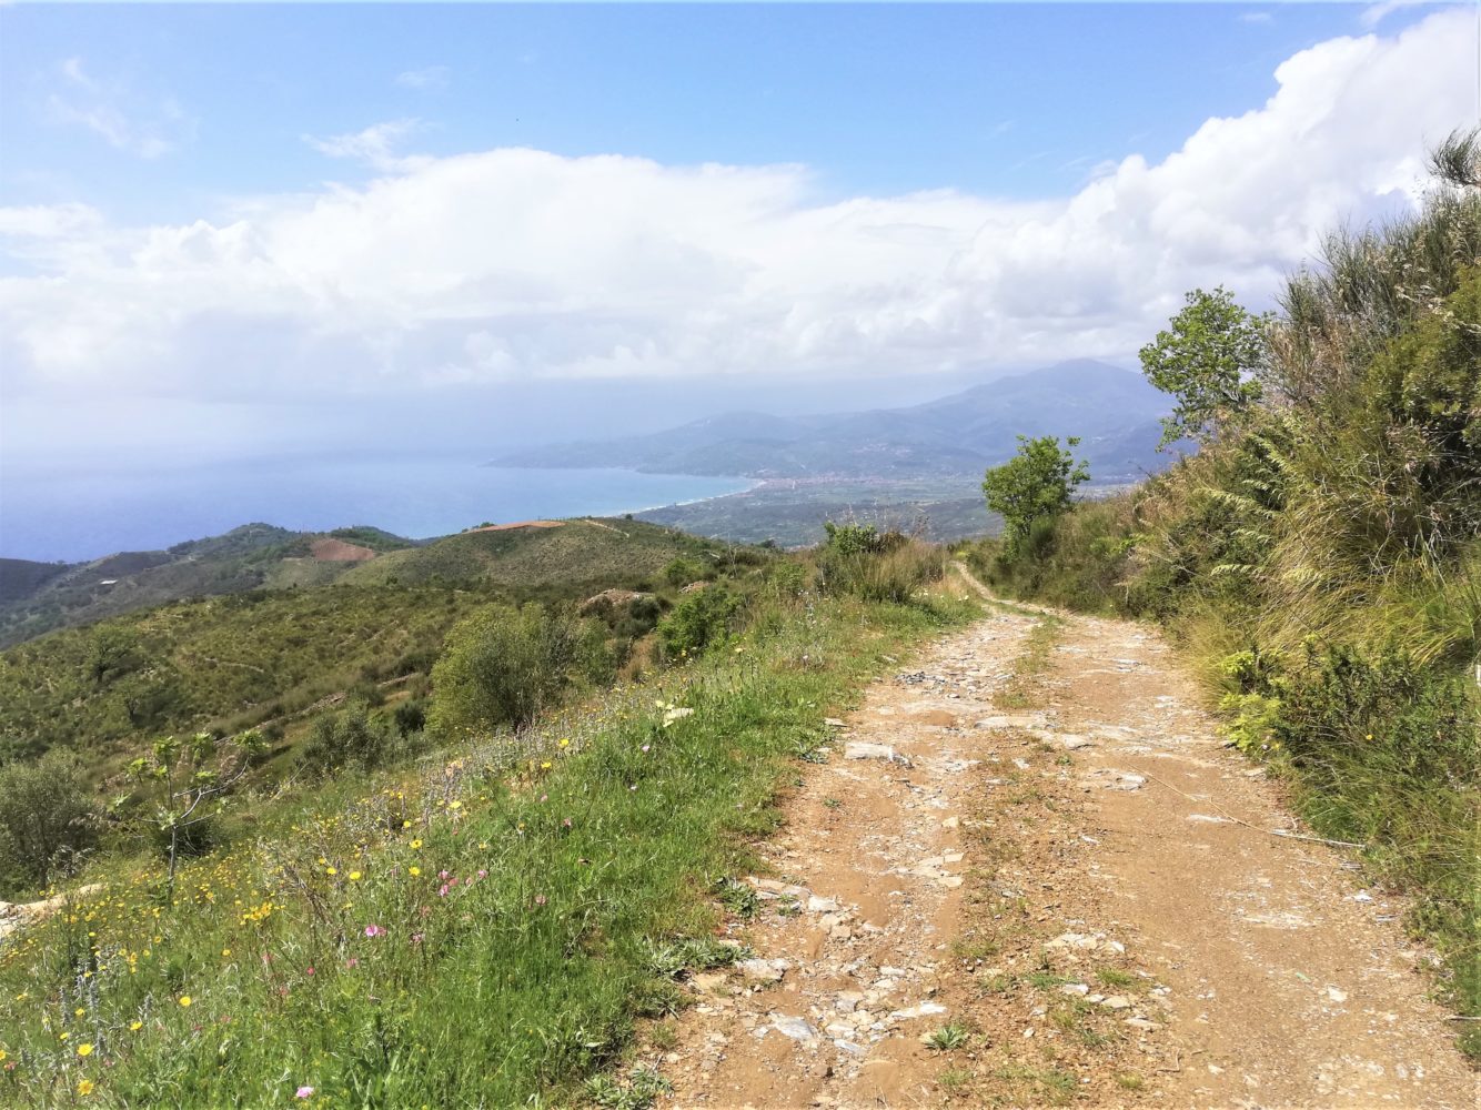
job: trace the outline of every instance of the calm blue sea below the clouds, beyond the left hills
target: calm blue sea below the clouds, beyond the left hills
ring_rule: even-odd
[[[619,515],[748,488],[743,478],[524,471],[477,460],[262,460],[154,471],[0,475],[0,556],[81,561],[265,521],[317,531],[373,524],[446,536],[483,521]]]

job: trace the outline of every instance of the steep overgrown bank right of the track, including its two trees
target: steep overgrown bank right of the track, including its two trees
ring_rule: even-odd
[[[1069,508],[1068,454],[1029,444],[989,474],[1009,531],[974,562],[1020,596],[1170,626],[1231,740],[1416,895],[1408,924],[1474,1017],[1481,144],[1457,135],[1434,161],[1416,215],[1333,234],[1280,314],[1194,293],[1143,349],[1195,457]]]

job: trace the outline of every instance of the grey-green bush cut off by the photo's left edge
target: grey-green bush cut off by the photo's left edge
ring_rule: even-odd
[[[98,842],[99,814],[81,762],[50,750],[0,768],[0,884],[47,885]]]

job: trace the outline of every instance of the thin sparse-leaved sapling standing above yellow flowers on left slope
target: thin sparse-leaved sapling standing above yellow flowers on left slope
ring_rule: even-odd
[[[175,894],[175,869],[187,850],[195,847],[201,826],[227,805],[227,793],[247,773],[252,758],[267,750],[256,730],[222,743],[210,733],[195,733],[181,741],[173,736],[154,741],[148,756],[129,764],[132,777],[154,795],[154,827],[169,858],[166,894]]]

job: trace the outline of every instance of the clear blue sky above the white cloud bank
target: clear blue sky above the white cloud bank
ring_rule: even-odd
[[[1363,10],[21,4],[0,10],[0,188],[118,219],[210,215],[222,197],[344,178],[305,135],[418,120],[428,154],[803,163],[825,194],[1032,198],[1259,105],[1281,59],[1358,30]],[[104,101],[172,149],[139,157],[55,107]]]

